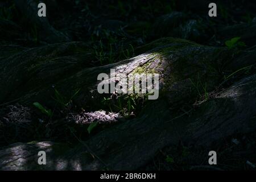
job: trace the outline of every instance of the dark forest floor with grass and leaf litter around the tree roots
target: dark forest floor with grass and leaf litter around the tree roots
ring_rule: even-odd
[[[20,2],[26,4],[27,1]],[[33,8],[24,11],[24,7],[17,1],[0,1],[0,60],[10,62],[15,59],[29,60],[29,57],[32,59],[38,52],[39,55],[42,52],[42,57],[47,55],[52,60],[57,60],[58,56],[62,56],[61,59],[67,59],[69,65],[60,64],[63,72],[57,69],[56,75],[60,74],[57,76],[53,74],[51,83],[55,82],[55,78],[60,80],[61,76],[72,78],[82,68],[85,69],[84,72],[90,72],[96,67],[104,69],[108,65],[118,65],[120,61],[132,59],[151,50],[148,45],[161,38],[163,38],[162,42],[168,37],[190,40],[205,46],[205,49],[208,47],[224,48],[230,52],[233,51],[233,56],[241,52],[256,50],[256,3],[254,1],[217,2],[218,16],[214,18],[208,16],[209,3],[203,0],[197,3],[193,1],[142,3],[135,0],[129,2],[56,0],[46,1],[46,4],[47,20],[40,20],[37,16],[28,18],[31,12],[34,12]],[[179,41],[177,44],[180,43]],[[187,43],[181,43],[187,45]],[[53,49],[55,46],[56,49]],[[86,51],[87,53],[84,54]],[[20,52],[23,54],[20,54],[20,57],[13,56]],[[76,59],[87,60],[86,63],[77,67],[76,61],[72,62]],[[31,61],[31,70],[37,67],[36,64],[32,67],[33,64]],[[232,65],[229,68],[233,69]],[[52,69],[55,69],[54,63]],[[35,72],[39,71],[35,69]],[[43,73],[48,73],[51,78],[50,71]],[[10,80],[18,80],[22,74],[26,75],[26,71],[10,73]],[[212,92],[202,94],[202,96],[199,93],[200,97],[193,98],[179,106],[175,114],[179,115],[196,109],[197,105],[204,104],[210,98],[217,98],[215,94],[221,94],[223,90],[254,74],[255,64],[223,73],[225,81],[218,84]],[[98,109],[96,104],[87,104],[82,107],[76,105],[75,97],[81,100],[80,89],[73,90],[71,97],[64,97],[64,91],[61,89],[60,91],[57,88],[58,85],[52,85],[54,94],[52,98],[49,98],[51,100],[49,105],[45,106],[42,104],[43,101],[37,100],[34,101],[34,105],[28,104],[30,98],[23,93],[29,93],[31,88],[31,90],[38,89],[39,86],[35,83],[49,84],[43,80],[46,76],[39,73],[39,77],[42,77],[42,80],[36,80],[36,78],[33,80],[34,78],[28,75],[28,84],[27,80],[20,81],[20,85],[25,86],[17,86],[16,88],[19,89],[11,92],[8,90],[11,88],[9,85],[5,88],[0,87],[3,90],[0,93],[2,94],[0,98],[0,148],[2,150],[16,142],[49,140],[65,142],[71,146],[79,144],[81,140],[92,139],[103,130],[118,127],[118,123],[133,121],[138,116],[141,117],[140,114],[146,104],[151,104],[151,102],[145,102],[144,98],[137,100],[135,97],[129,97],[122,98],[123,100],[115,107],[114,102],[109,102],[108,98],[104,97],[104,100],[100,101],[100,110],[96,113],[95,110]],[[8,80],[9,77],[0,78],[1,83],[6,79]],[[29,81],[34,85],[31,85]],[[44,93],[42,100],[44,100]],[[54,107],[51,107],[53,102]],[[227,115],[228,112],[229,110]],[[101,124],[91,125],[94,121]],[[183,140],[179,140],[176,144],[160,148],[146,164],[135,166],[134,169],[255,170],[255,141],[255,130],[233,133],[205,146],[183,143]],[[211,150],[215,150],[218,154],[216,166],[208,165],[208,152]],[[147,151],[144,152],[147,153]]]

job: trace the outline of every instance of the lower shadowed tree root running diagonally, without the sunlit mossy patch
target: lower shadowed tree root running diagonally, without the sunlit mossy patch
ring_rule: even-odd
[[[250,90],[250,94],[247,90]],[[16,143],[0,151],[0,168],[137,169],[147,164],[156,151],[164,146],[180,141],[208,146],[232,134],[254,131],[255,95],[256,75],[253,75],[230,86],[199,108],[178,117],[174,117],[164,102],[158,101],[154,106],[145,108],[146,113],[141,117],[104,130],[79,146],[68,148],[64,144],[51,142]],[[39,150],[46,151],[49,156],[46,166],[37,163]]]

